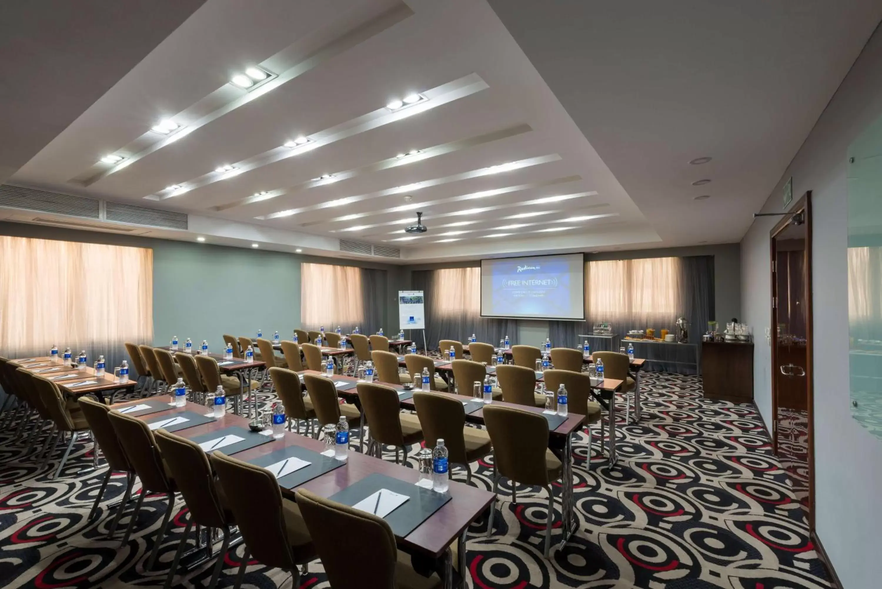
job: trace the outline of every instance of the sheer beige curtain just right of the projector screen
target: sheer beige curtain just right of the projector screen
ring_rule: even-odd
[[[620,326],[673,328],[685,307],[681,264],[680,258],[588,262],[587,317]]]

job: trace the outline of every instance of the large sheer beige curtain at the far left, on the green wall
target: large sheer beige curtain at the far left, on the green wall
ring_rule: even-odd
[[[126,341],[153,341],[153,250],[0,237],[0,353],[116,362]]]

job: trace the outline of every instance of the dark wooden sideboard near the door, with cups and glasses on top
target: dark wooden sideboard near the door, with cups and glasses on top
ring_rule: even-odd
[[[753,400],[753,344],[701,343],[705,398],[734,403]]]

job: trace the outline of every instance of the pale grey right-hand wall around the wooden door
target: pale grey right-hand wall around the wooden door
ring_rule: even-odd
[[[795,99],[796,100],[796,99]],[[852,419],[848,396],[848,145],[882,116],[882,31],[877,29],[803,147],[766,201],[781,211],[793,177],[794,200],[812,191],[814,311],[815,517],[844,589],[882,584],[882,441]],[[761,140],[758,138],[758,140]],[[754,326],[754,396],[771,425],[769,230],[753,223],[741,243],[744,321]]]

